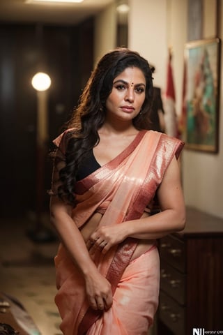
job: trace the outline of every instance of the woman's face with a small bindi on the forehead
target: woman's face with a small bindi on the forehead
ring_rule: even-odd
[[[114,78],[112,92],[106,101],[106,119],[132,121],[146,97],[146,79],[137,67],[125,68]]]

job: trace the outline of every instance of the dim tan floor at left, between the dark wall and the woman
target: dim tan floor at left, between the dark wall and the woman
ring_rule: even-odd
[[[28,219],[1,220],[0,291],[23,304],[41,335],[61,335],[54,304],[58,241],[34,243],[27,237],[31,225]]]

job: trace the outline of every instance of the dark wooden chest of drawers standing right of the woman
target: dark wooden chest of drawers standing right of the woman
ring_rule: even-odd
[[[223,219],[188,208],[185,230],[160,239],[160,260],[157,335],[223,334]]]

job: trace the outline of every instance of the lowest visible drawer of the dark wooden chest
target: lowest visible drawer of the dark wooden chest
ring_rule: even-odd
[[[185,307],[160,290],[159,318],[174,335],[185,335]]]

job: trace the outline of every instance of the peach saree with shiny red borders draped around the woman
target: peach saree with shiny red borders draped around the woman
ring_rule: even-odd
[[[62,154],[66,152],[67,132],[54,140]],[[104,213],[100,225],[121,224],[140,218],[146,206],[153,201],[169,163],[174,155],[178,157],[182,148],[183,142],[176,138],[154,131],[140,131],[121,154],[76,183],[78,204],[72,211],[74,224],[81,229],[95,211]],[[95,253],[93,261],[98,271],[111,283],[114,295],[112,308],[102,313],[89,308],[84,280],[66,249],[59,246],[55,258],[56,287],[59,291],[55,301],[61,313],[63,334],[146,334],[157,308],[159,261],[154,248],[151,253],[130,262],[136,247],[137,239],[128,238],[105,255],[100,251]],[[137,277],[145,259],[146,274],[141,273]],[[131,282],[129,288],[128,278]],[[123,290],[124,287],[128,289]],[[144,300],[145,291],[149,293]],[[125,300],[121,297],[128,297],[130,303],[121,304]],[[125,311],[122,311],[123,308]],[[114,327],[114,332],[106,330],[108,327]]]

